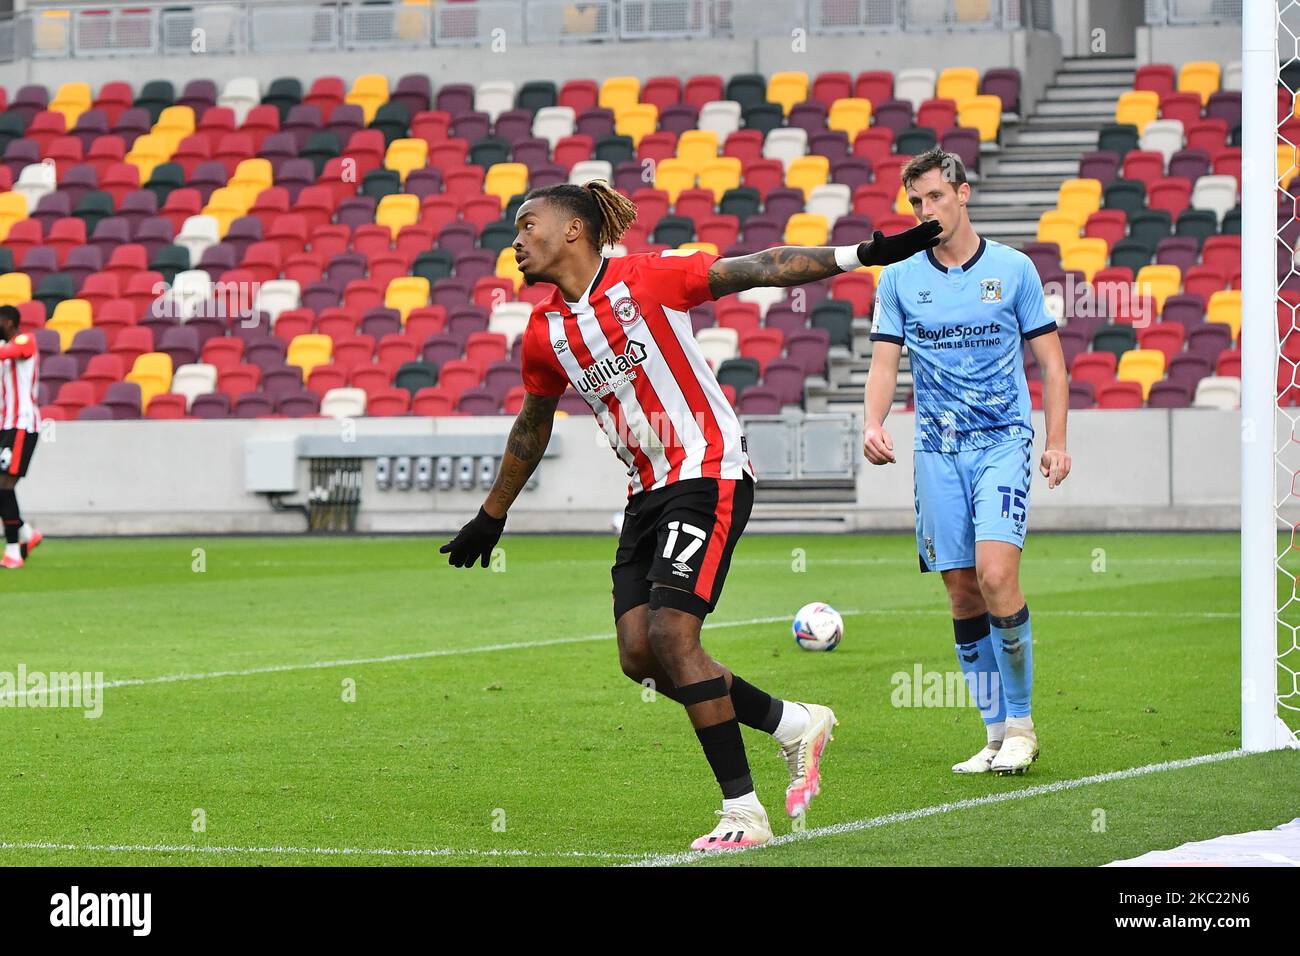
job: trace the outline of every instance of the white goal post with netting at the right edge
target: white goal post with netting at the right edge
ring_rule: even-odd
[[[1300,316],[1279,261],[1296,230],[1279,232],[1283,177],[1295,174],[1278,108],[1280,65],[1300,56],[1300,0],[1243,4],[1242,17],[1242,748],[1296,745],[1300,728],[1300,460],[1292,405],[1300,365],[1284,358]],[[1290,72],[1286,75],[1291,75]],[[1292,90],[1292,94],[1297,92]],[[1291,98],[1292,111],[1295,96]],[[1287,165],[1287,168],[1279,168]],[[1279,255],[1278,243],[1288,251]],[[1291,282],[1296,276],[1291,274]],[[1292,328],[1295,330],[1292,332]],[[1296,343],[1291,343],[1294,346]],[[1296,352],[1300,354],[1300,352]]]

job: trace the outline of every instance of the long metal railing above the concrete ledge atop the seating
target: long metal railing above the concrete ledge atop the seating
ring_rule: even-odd
[[[1149,0],[1158,4],[1240,0]],[[1050,29],[1045,0],[143,0],[46,3],[0,20],[0,61],[21,57],[324,52],[692,40],[898,30]]]

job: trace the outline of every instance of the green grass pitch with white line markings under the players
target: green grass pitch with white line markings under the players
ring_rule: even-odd
[[[0,864],[612,865],[708,830],[716,787],[685,715],[618,667],[612,536],[507,535],[497,572],[447,567],[442,540],[49,540],[5,574],[0,671],[109,687],[98,719],[0,708]],[[949,771],[982,744],[972,709],[894,705],[893,675],[956,669],[910,536],[746,536],[705,645],[836,709],[815,832],[1235,749],[1238,549],[1030,538],[1043,757],[1022,778]],[[829,654],[790,639],[814,600],[845,614]],[[745,735],[789,832],[784,763]],[[1297,780],[1297,752],[1240,757],[708,862],[1097,865],[1283,823]]]

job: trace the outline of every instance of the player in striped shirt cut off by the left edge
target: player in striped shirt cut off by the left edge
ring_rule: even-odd
[[[21,315],[0,306],[0,519],[4,520],[4,557],[0,568],[18,568],[40,544],[39,531],[22,520],[14,486],[27,473],[40,432],[36,390],[40,354],[35,336],[20,330]]]

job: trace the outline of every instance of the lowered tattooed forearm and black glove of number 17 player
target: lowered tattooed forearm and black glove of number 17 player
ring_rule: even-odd
[[[506,512],[524,490],[524,484],[537,470],[542,453],[551,441],[551,425],[555,423],[555,406],[559,401],[558,397],[525,393],[524,406],[510,429],[506,451],[500,457],[500,467],[488,498],[460,533],[438,549],[439,554],[448,555],[448,564],[473,567],[476,561],[481,561],[488,567],[491,551],[506,528]]]

